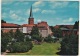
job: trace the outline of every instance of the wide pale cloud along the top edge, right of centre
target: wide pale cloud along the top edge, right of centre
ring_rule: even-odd
[[[69,2],[68,1],[64,1],[64,2],[62,2],[62,1],[50,1],[50,7],[51,8],[63,8],[63,7],[66,7],[68,4],[69,4]]]

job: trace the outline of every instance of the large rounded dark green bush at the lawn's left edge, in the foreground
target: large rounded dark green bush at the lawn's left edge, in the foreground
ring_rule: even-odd
[[[33,45],[31,42],[16,42],[10,46],[11,52],[27,52],[32,49]]]

